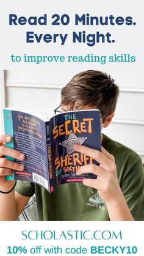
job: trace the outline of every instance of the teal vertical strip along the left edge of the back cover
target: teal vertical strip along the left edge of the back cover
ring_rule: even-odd
[[[4,109],[4,132],[7,135],[12,136],[13,138],[13,120],[12,120],[12,111],[8,109]],[[10,141],[9,143],[5,143],[6,147],[14,148],[14,141]],[[10,156],[5,156],[5,158],[9,159],[10,161],[15,161],[14,158]],[[6,175],[5,180],[15,180],[15,172],[12,175]]]

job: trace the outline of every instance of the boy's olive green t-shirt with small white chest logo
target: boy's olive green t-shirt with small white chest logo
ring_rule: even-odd
[[[129,210],[136,221],[144,221],[144,170],[137,153],[106,135],[103,147],[115,156],[118,181]],[[82,183],[59,186],[53,194],[39,185],[18,181],[16,191],[23,196],[35,193],[40,221],[109,221],[106,204],[96,189]]]

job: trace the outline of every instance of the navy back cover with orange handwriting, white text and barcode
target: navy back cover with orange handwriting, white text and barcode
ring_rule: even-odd
[[[15,179],[34,181],[48,189],[45,122],[33,115],[7,109],[4,110],[4,115],[5,130],[9,130],[9,134],[13,133],[13,148],[26,155],[24,161],[15,159],[16,163],[25,166],[23,172],[14,173]]]

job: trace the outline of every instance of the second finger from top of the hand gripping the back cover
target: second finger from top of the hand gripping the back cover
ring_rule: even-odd
[[[23,153],[19,152],[18,150],[5,147],[5,145],[2,145],[0,147],[0,156],[10,156],[12,158],[16,158],[19,160],[24,160],[25,156]]]

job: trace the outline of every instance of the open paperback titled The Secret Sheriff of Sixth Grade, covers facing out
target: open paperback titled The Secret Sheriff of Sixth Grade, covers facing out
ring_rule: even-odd
[[[93,174],[77,175],[86,164],[98,164],[94,159],[75,152],[73,145],[85,145],[101,151],[101,123],[98,109],[68,111],[47,117],[13,108],[4,109],[5,134],[13,137],[7,147],[26,155],[22,172],[13,171],[6,180],[24,180],[43,186],[50,193],[64,183],[96,178]]]

